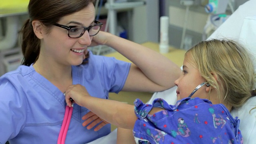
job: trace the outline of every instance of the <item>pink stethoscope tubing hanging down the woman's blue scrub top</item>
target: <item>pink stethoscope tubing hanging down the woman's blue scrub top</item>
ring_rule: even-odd
[[[65,92],[64,92],[64,96],[65,96]],[[71,102],[73,101],[72,98],[70,98]],[[64,114],[64,118],[63,118],[63,122],[60,128],[60,134],[58,137],[58,142],[57,144],[65,144],[65,140],[66,140],[66,136],[68,133],[68,127],[70,124],[70,120],[71,120],[71,116],[72,116],[72,112],[73,112],[73,104],[71,107],[68,106],[68,104],[66,105],[66,109],[65,109],[65,114]]]

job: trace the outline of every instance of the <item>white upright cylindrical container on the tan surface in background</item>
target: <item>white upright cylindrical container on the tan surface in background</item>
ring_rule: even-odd
[[[160,44],[159,44],[160,53],[169,52],[168,27],[169,27],[169,17],[161,16],[160,17]]]

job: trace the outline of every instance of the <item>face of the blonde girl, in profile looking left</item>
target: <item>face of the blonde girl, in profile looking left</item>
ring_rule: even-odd
[[[199,70],[192,66],[189,54],[186,55],[183,62],[182,75],[174,82],[178,86],[176,93],[178,100],[188,97],[193,90],[206,80],[200,75]],[[207,98],[206,86],[202,86],[197,90],[193,97]]]

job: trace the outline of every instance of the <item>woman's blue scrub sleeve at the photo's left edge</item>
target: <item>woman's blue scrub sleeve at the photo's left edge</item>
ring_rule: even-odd
[[[20,86],[0,79],[0,144],[16,137],[26,123],[27,104]]]

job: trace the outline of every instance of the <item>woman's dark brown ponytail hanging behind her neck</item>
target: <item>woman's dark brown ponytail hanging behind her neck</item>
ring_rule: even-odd
[[[21,30],[22,33],[22,54],[24,56],[22,65],[30,66],[39,56],[40,40],[34,34],[32,22],[28,19]]]

